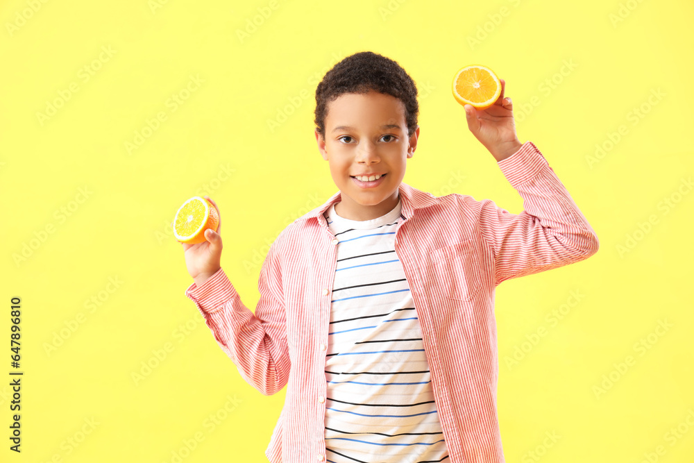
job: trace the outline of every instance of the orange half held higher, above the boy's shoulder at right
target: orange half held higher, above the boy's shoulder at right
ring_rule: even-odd
[[[477,109],[492,106],[501,94],[501,81],[486,66],[466,66],[453,78],[453,96],[458,103]]]

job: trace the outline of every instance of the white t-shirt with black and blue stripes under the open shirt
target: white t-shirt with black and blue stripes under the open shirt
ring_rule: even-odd
[[[328,463],[446,462],[414,301],[395,251],[402,205],[377,219],[325,212],[337,237],[325,360]]]

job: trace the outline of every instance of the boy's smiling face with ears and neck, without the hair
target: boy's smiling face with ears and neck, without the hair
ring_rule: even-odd
[[[328,103],[325,139],[317,129],[315,135],[341,192],[335,205],[340,217],[371,220],[395,208],[407,158],[412,158],[419,136],[419,126],[407,136],[402,101],[373,90],[342,94]],[[381,178],[367,183],[354,178],[367,174]]]

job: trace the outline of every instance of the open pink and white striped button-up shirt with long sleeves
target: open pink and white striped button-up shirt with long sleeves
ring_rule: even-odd
[[[395,249],[421,326],[452,463],[504,463],[496,409],[494,291],[509,278],[579,262],[598,237],[532,142],[497,162],[523,197],[511,214],[489,199],[399,187]],[[255,314],[219,269],[186,289],[242,378],[287,394],[265,455],[271,463],[325,462],[325,354],[338,240],[323,205],[289,224],[260,269]]]

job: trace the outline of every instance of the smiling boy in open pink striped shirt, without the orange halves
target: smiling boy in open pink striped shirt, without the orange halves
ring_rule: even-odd
[[[518,141],[501,82],[494,106],[466,106],[466,119],[521,214],[402,183],[417,90],[397,62],[362,52],[316,88],[316,142],[339,192],[273,242],[255,314],[220,267],[221,228],[183,244],[185,294],[219,346],[262,394],[287,385],[270,462],[505,461],[495,288],[584,260],[598,238],[534,144]]]

